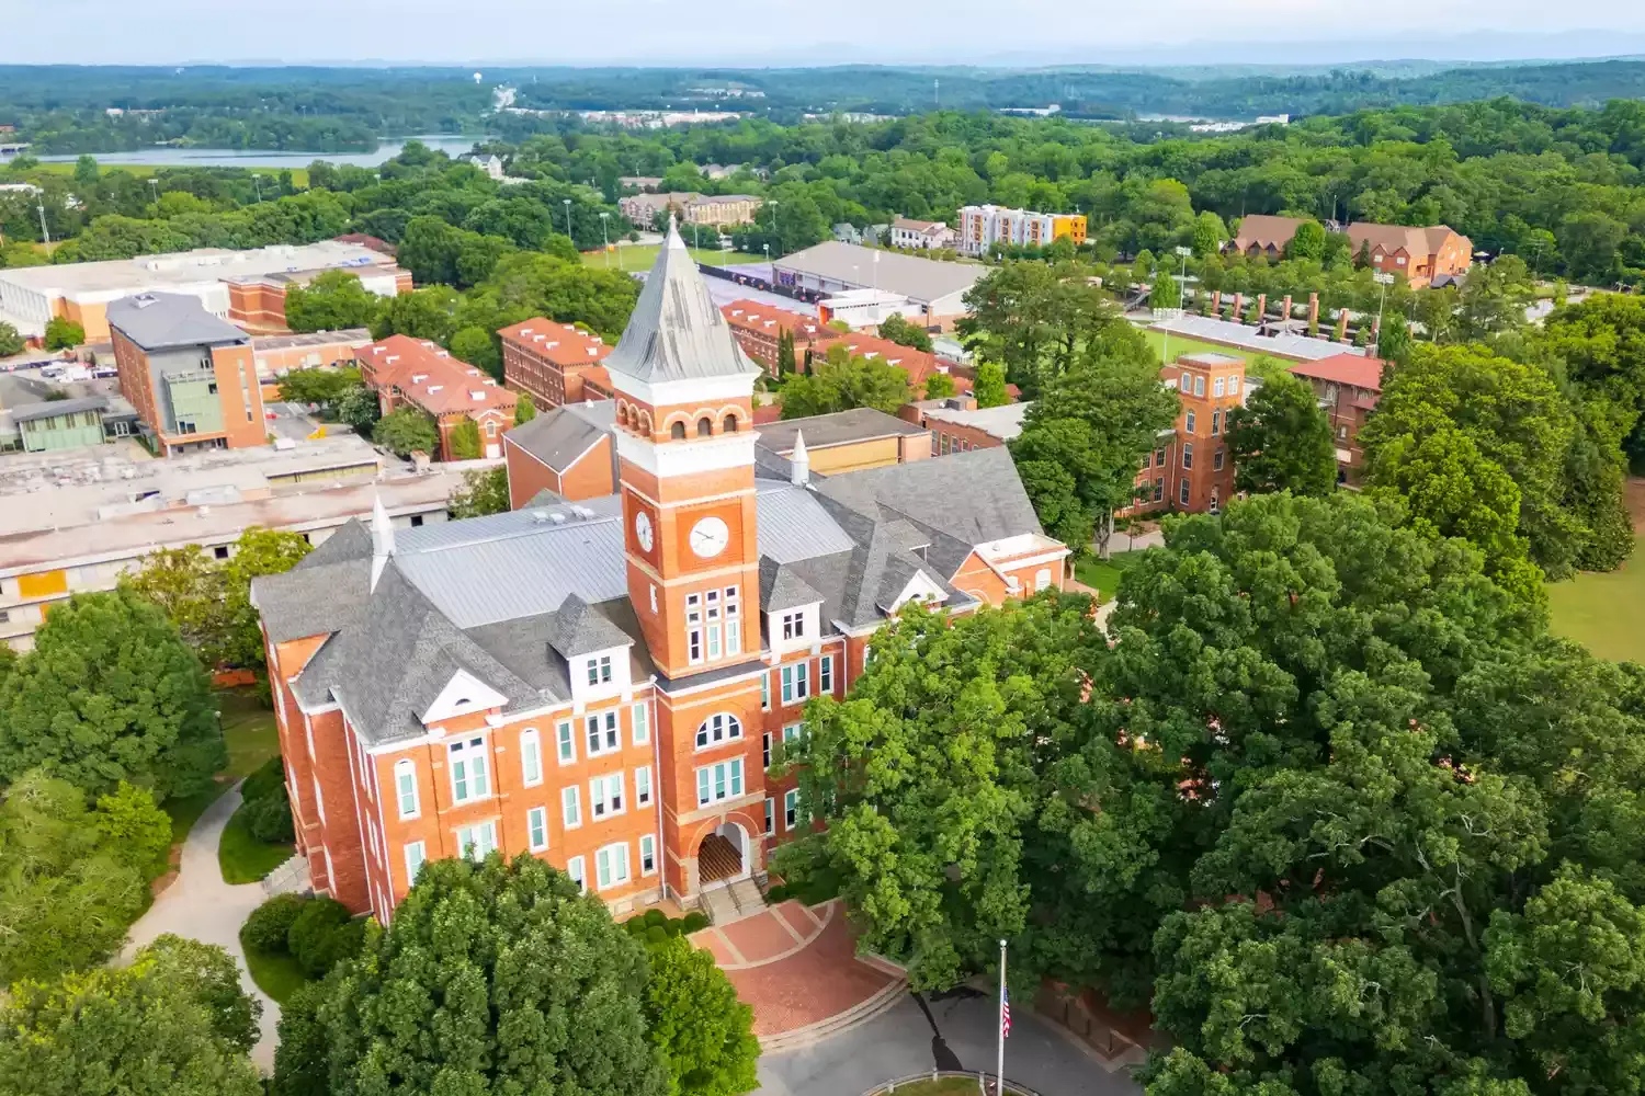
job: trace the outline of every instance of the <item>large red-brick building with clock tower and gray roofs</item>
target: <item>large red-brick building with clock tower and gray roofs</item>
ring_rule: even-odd
[[[617,912],[745,894],[798,827],[772,751],[892,613],[1064,582],[1003,452],[837,477],[757,452],[758,366],[674,232],[607,370],[615,495],[373,519],[253,583],[298,850],[352,910],[492,850]]]

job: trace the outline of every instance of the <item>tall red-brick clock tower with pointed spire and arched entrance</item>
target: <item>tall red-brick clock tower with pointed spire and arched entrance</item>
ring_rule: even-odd
[[[658,679],[665,879],[689,896],[762,869],[760,370],[673,225],[605,368],[628,596]]]

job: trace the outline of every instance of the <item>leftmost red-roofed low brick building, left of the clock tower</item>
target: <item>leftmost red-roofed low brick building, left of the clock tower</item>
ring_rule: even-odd
[[[410,335],[390,335],[359,353],[360,380],[377,393],[383,414],[421,408],[439,427],[439,460],[452,460],[451,432],[467,419],[480,431],[480,455],[502,457],[518,396],[449,350]]]

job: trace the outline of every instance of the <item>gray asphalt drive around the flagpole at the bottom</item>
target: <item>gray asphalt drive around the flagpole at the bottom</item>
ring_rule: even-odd
[[[857,1096],[898,1076],[931,1070],[994,1071],[992,994],[959,991],[938,1001],[908,996],[872,1022],[814,1047],[760,1058],[758,1096]],[[1092,1052],[1026,1007],[1012,1015],[1005,1076],[1041,1096],[1137,1096],[1122,1066],[1109,1071]]]

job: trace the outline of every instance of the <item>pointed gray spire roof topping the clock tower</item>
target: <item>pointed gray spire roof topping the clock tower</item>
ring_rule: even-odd
[[[730,324],[709,296],[702,273],[673,222],[628,327],[604,365],[609,373],[651,385],[760,373],[760,366],[732,338]]]

